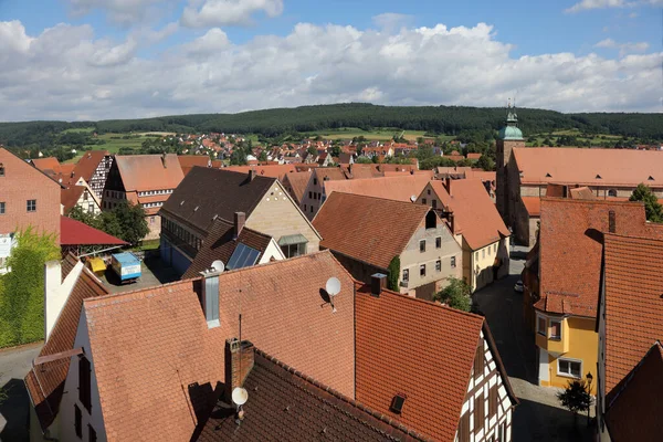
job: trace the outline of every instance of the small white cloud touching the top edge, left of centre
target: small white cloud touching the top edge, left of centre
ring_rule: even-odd
[[[263,12],[273,18],[283,12],[283,0],[189,0],[181,23],[188,28],[246,25]]]

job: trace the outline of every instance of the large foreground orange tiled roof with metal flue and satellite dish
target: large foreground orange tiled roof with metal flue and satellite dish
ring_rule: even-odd
[[[336,313],[322,295],[340,280]],[[354,281],[329,252],[219,276],[220,327],[208,328],[201,280],[84,303],[109,441],[189,440],[218,382],[225,339],[239,336],[284,364],[354,396]],[[130,419],[127,419],[130,417]]]

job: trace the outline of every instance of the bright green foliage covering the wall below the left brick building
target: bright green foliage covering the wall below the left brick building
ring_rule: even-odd
[[[44,263],[60,259],[53,234],[28,228],[17,233],[0,280],[0,347],[33,343],[44,337]]]

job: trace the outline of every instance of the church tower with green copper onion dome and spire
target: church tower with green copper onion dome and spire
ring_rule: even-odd
[[[523,138],[523,133],[518,129],[516,107],[515,105],[512,107],[509,102],[507,105],[506,126],[499,129],[496,144],[497,210],[507,225],[513,224],[511,218],[513,217],[512,212],[514,208],[509,207],[508,200],[509,193],[514,192],[514,189],[511,189],[509,192],[508,164],[514,147],[525,147],[525,139]],[[513,180],[511,185],[518,186],[516,180]]]

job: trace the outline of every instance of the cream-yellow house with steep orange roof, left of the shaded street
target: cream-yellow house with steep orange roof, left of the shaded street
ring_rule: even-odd
[[[430,181],[417,198],[449,223],[463,249],[463,278],[472,292],[508,275],[509,231],[481,179]]]

